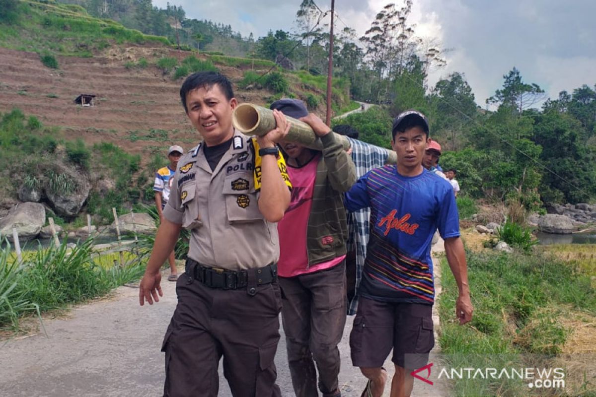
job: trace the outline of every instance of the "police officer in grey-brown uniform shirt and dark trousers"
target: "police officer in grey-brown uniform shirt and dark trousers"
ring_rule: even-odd
[[[189,76],[182,105],[203,142],[178,162],[170,199],[141,280],[139,302],[163,296],[159,268],[182,227],[191,230],[178,305],[163,340],[164,396],[216,396],[218,364],[235,397],[280,396],[274,357],[280,339],[279,221],[290,181],[276,143],[290,126],[258,138],[232,127],[237,105],[219,73]]]

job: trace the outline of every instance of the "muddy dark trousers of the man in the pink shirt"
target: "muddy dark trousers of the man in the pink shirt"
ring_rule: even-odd
[[[346,264],[296,277],[280,277],[281,318],[288,364],[297,397],[337,393],[340,356],[337,345],[346,325]],[[315,371],[316,364],[316,371]]]

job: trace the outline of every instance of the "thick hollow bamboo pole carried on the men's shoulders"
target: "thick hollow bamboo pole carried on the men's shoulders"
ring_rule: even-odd
[[[290,123],[290,131],[286,137],[289,142],[300,143],[300,145],[304,145],[310,149],[322,150],[321,139],[315,135],[311,126],[289,116],[285,116],[285,120]],[[234,124],[235,129],[244,135],[263,136],[272,129],[275,129],[275,118],[271,109],[244,103],[234,109],[232,124]],[[350,148],[350,141],[347,137],[338,133],[333,134],[339,142],[342,142],[344,149],[347,150]],[[384,150],[387,151],[386,164],[396,164],[398,162],[398,155],[392,150]]]

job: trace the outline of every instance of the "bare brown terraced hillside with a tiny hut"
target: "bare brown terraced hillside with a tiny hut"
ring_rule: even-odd
[[[20,108],[46,125],[63,127],[66,138],[116,143],[128,152],[194,142],[179,101],[181,81],[164,76],[156,67],[124,66],[140,57],[182,58],[188,53],[114,46],[102,55],[57,57],[60,69],[56,70],[45,67],[34,52],[0,48],[0,112]],[[241,77],[237,68],[221,69],[232,79]],[[76,105],[74,99],[80,93],[97,95],[95,107]],[[263,93],[238,92],[238,96],[263,102]]]

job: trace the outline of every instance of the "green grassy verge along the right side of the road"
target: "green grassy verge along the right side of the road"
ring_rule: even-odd
[[[589,277],[563,261],[541,254],[467,252],[467,262],[474,315],[466,326],[454,321],[458,289],[442,262],[439,342],[451,367],[532,367],[535,362],[526,360],[562,352],[570,330],[561,317],[570,311],[596,314],[596,290]],[[455,381],[453,395],[535,395],[532,391],[527,383],[505,377],[464,378]]]

